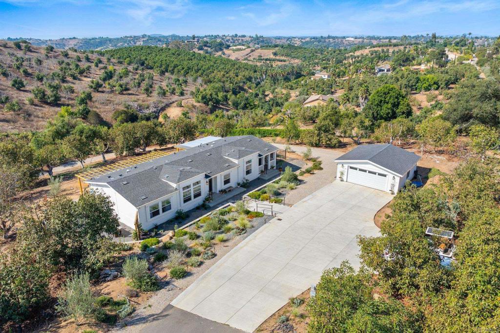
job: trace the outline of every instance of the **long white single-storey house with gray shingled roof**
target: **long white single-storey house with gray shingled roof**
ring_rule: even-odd
[[[209,137],[183,143],[185,150],[86,179],[114,203],[120,221],[134,228],[136,216],[150,229],[203,202],[210,192],[230,190],[276,166],[274,145],[253,135]]]

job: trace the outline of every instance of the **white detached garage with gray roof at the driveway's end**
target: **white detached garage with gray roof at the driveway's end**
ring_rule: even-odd
[[[392,144],[363,144],[335,159],[336,178],[395,194],[413,178],[419,159]]]

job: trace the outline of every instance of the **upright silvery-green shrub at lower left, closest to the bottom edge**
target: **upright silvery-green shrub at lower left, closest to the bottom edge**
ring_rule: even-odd
[[[57,311],[77,323],[82,319],[95,316],[95,297],[90,289],[88,273],[74,274],[66,280],[61,295],[58,297]]]

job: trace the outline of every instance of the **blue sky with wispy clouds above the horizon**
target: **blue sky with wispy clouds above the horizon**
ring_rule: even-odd
[[[0,0],[0,38],[500,34],[500,0]]]

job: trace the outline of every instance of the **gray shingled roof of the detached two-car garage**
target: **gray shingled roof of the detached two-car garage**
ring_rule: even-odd
[[[396,174],[403,175],[416,164],[421,157],[408,150],[390,143],[362,144],[335,159],[340,161],[367,160],[380,165]]]

